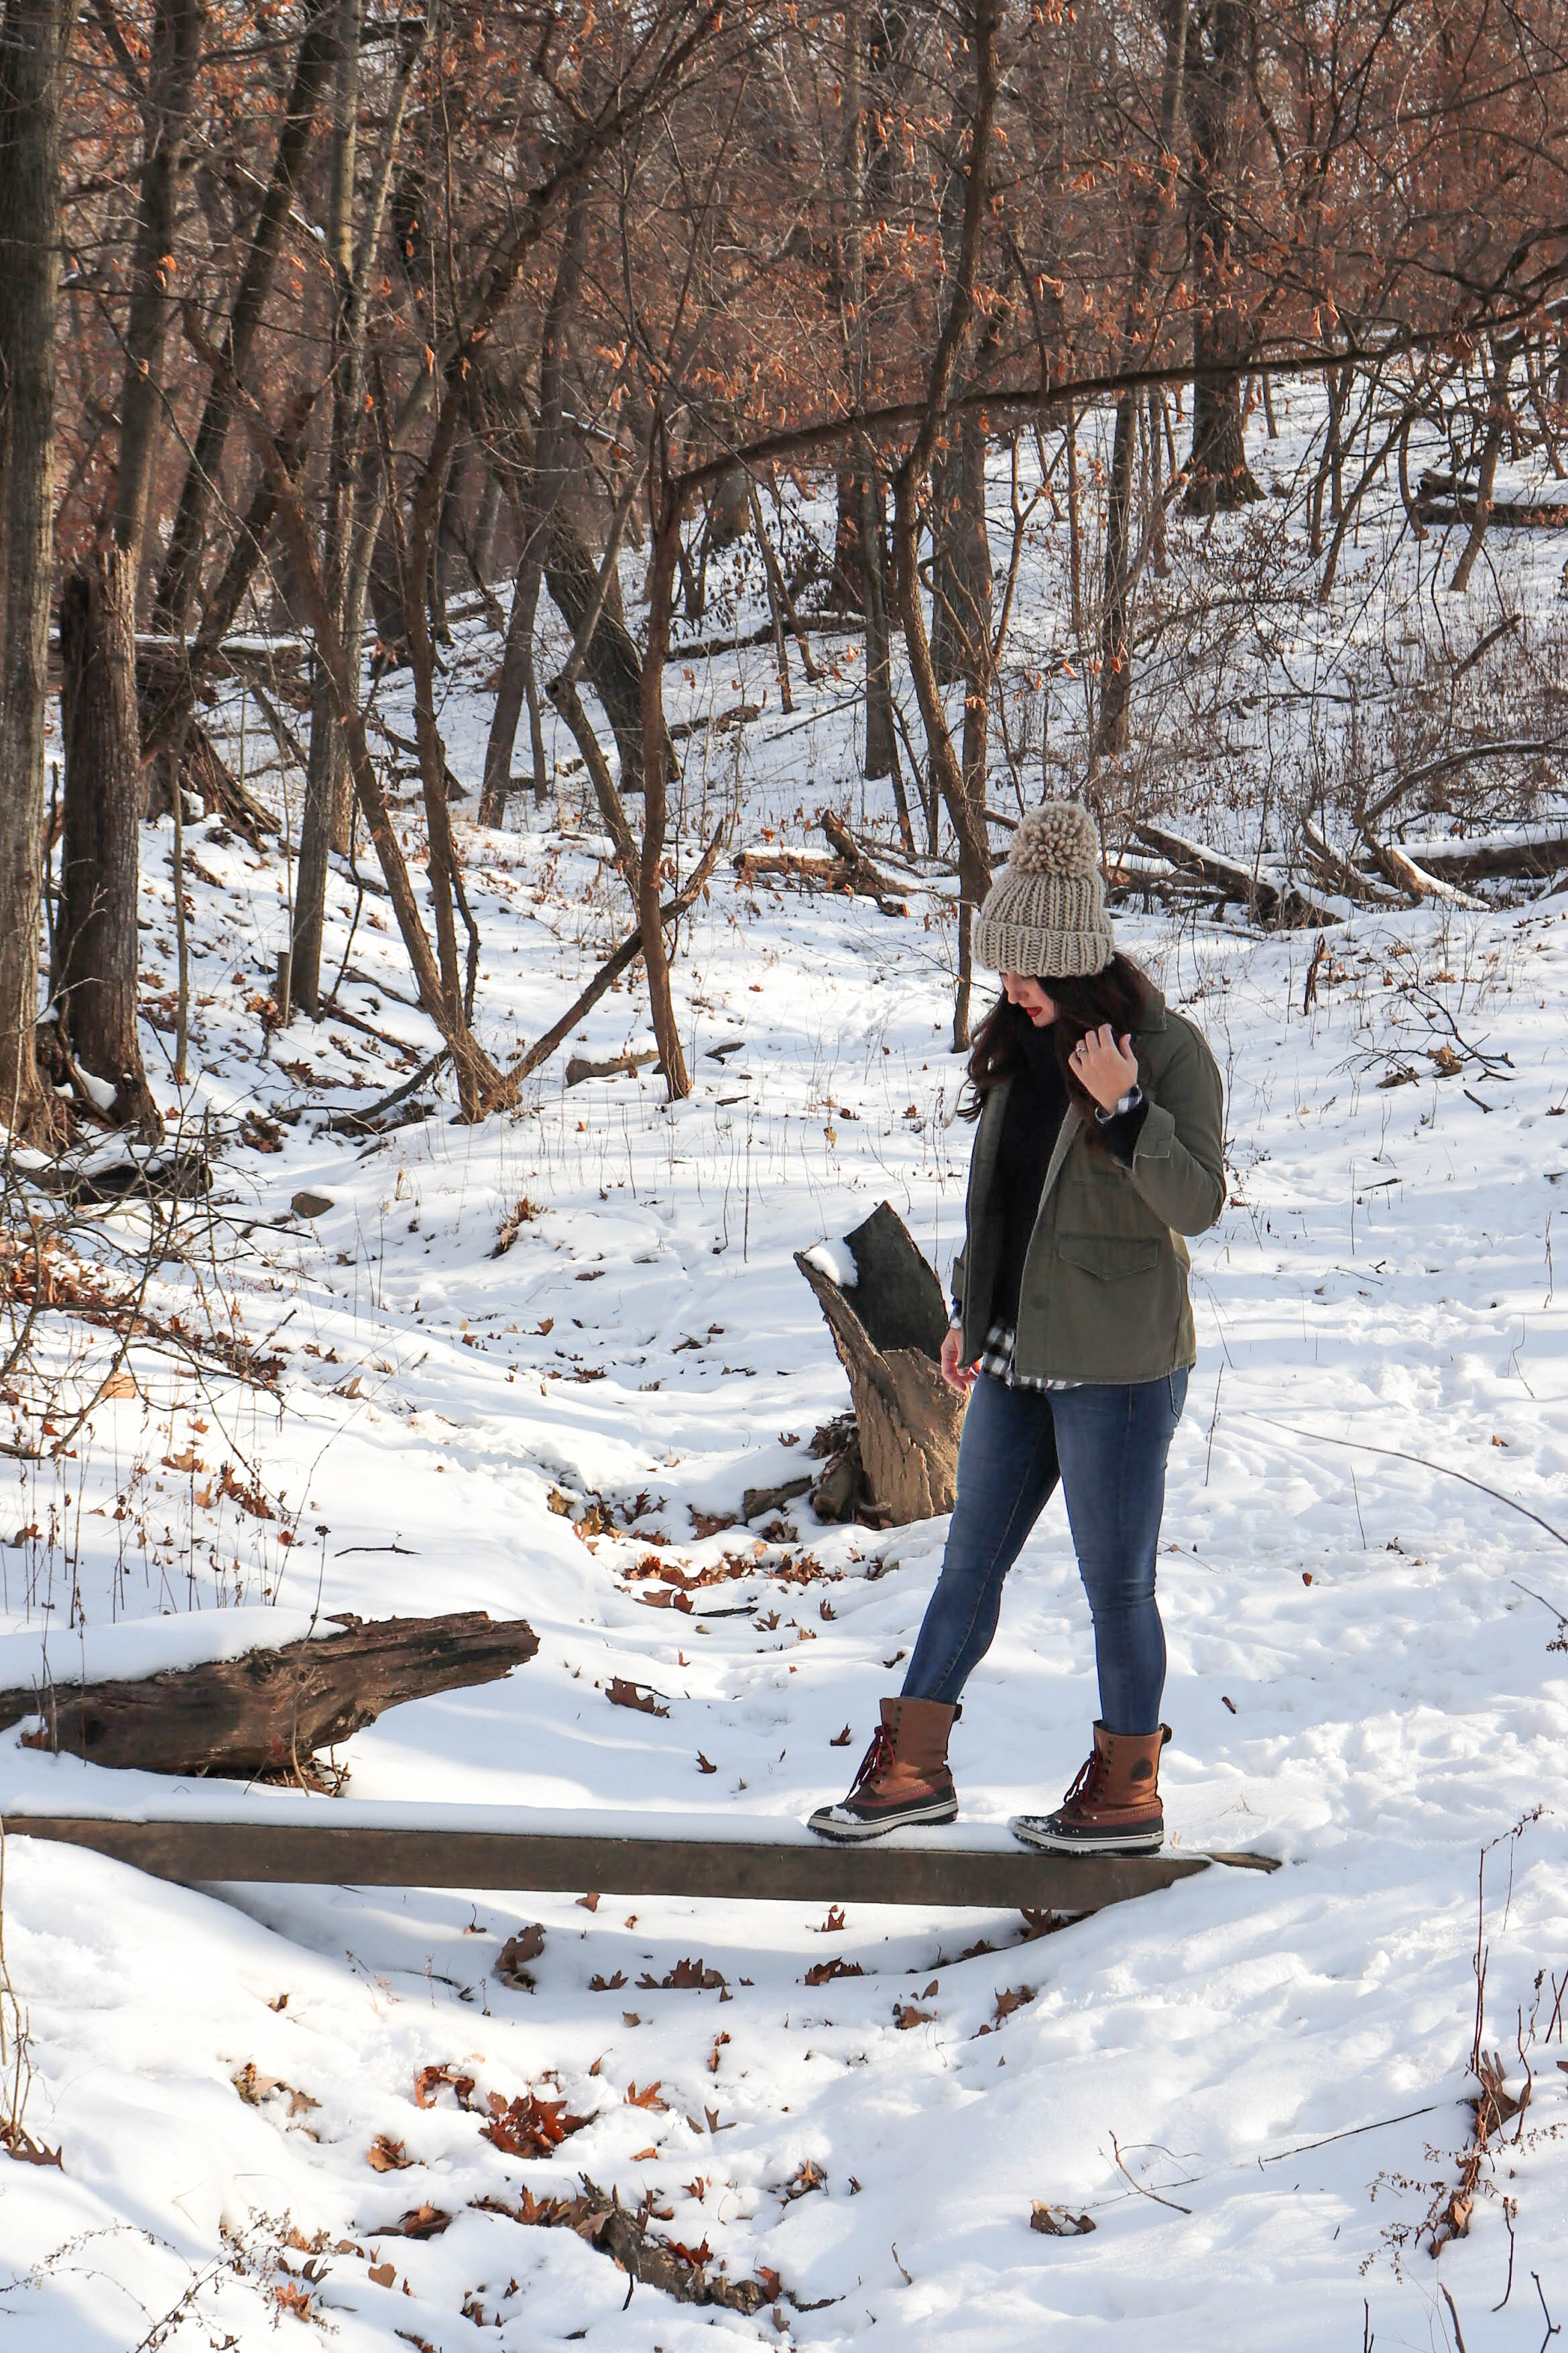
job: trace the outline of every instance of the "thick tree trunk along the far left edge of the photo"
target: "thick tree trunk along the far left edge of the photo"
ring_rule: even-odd
[[[75,0],[5,0],[0,24],[0,1122],[47,1141],[38,911],[54,565],[59,144]]]

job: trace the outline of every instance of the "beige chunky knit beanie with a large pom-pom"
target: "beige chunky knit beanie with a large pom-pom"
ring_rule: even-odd
[[[976,965],[1065,981],[1105,972],[1114,953],[1095,821],[1077,800],[1046,800],[1018,826],[985,894]]]

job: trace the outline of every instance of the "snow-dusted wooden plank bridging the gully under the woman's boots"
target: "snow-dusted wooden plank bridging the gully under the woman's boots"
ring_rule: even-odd
[[[922,1904],[1091,1913],[1206,1871],[1206,1854],[1030,1854],[1025,1847],[835,1847],[726,1838],[360,1828],[331,1821],[110,1821],[12,1814],[9,1838],[49,1838],[162,1880],[360,1887],[602,1889],[802,1904]],[[1213,1857],[1255,1864],[1262,1857]]]

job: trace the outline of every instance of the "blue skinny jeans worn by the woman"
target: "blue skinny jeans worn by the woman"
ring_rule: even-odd
[[[936,1593],[903,1680],[905,1699],[957,1706],[997,1633],[1001,1586],[1060,1480],[1095,1628],[1100,1720],[1110,1732],[1159,1725],[1166,1631],[1154,1555],[1166,1454],[1187,1400],[1187,1372],[1128,1386],[1009,1388],[983,1372],[959,1442],[959,1494]]]

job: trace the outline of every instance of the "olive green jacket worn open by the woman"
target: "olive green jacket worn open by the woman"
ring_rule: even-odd
[[[1220,1073],[1192,1021],[1159,995],[1133,1054],[1150,1108],[1131,1167],[1091,1146],[1072,1101],[1046,1167],[1018,1297],[1013,1365],[1027,1379],[1157,1381],[1197,1355],[1182,1235],[1204,1233],[1225,1207]],[[1001,1080],[985,1096],[969,1162],[952,1268],[964,1362],[985,1346],[1001,1254],[992,1188],[1009,1092]]]

